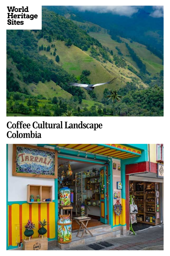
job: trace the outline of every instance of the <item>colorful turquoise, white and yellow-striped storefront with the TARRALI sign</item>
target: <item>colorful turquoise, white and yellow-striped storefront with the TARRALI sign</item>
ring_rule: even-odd
[[[25,148],[27,151],[23,151]],[[35,156],[31,150],[37,150],[39,153]],[[49,152],[48,157],[41,153],[43,151],[46,154]],[[20,159],[20,165],[17,159]],[[47,220],[49,225],[45,236],[49,244],[55,243],[58,238],[60,168],[68,166],[68,163],[71,163],[73,177],[72,181],[66,180],[64,185],[74,186],[73,213],[79,216],[80,203],[85,202],[90,208],[90,211],[86,209],[85,213],[93,218],[94,222],[96,218],[101,225],[109,225],[117,235],[127,234],[129,195],[126,189],[129,180],[126,179],[126,166],[145,162],[148,162],[148,144],[7,144],[7,250],[22,246],[24,226],[28,220],[35,223],[34,237],[38,237],[38,221]],[[49,168],[51,163],[53,170]],[[94,168],[99,174],[93,177]],[[89,177],[91,190],[93,186],[95,191],[100,187],[100,192],[97,190],[94,199],[90,199],[90,189],[87,191],[88,169],[92,170]],[[83,182],[86,187],[83,188],[82,184],[76,187],[73,183],[76,173],[82,173],[82,181],[85,180]],[[97,182],[94,185],[95,179]],[[77,193],[78,187],[84,192]],[[31,193],[40,194],[40,202],[30,202]],[[47,198],[50,200],[43,201]],[[90,200],[97,202],[97,205],[90,204]],[[114,211],[117,200],[122,206],[119,216]]]

